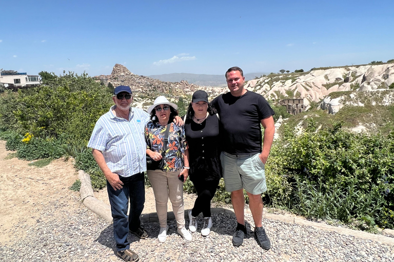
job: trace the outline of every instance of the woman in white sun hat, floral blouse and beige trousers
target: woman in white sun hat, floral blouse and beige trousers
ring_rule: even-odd
[[[167,202],[172,204],[175,215],[177,232],[186,240],[191,241],[191,234],[185,228],[185,215],[183,204],[183,182],[188,177],[188,149],[183,126],[177,126],[172,121],[178,116],[178,106],[171,103],[164,96],[154,100],[148,108],[150,121],[145,127],[146,154],[154,161],[163,158],[163,140],[167,126],[169,128],[167,150],[164,155],[165,164],[162,169],[147,170],[149,181],[153,188],[156,202],[156,212],[159,217],[159,242],[167,237]],[[183,180],[181,181],[180,178]]]

